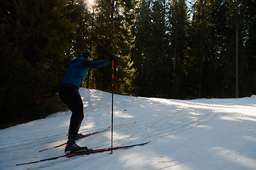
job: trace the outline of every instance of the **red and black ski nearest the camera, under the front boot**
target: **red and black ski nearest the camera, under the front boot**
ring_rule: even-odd
[[[34,163],[38,163],[38,162],[50,161],[50,160],[58,159],[60,157],[75,157],[75,156],[82,155],[82,154],[94,154],[94,153],[98,153],[98,152],[112,151],[112,150],[121,149],[121,148],[135,147],[135,146],[139,146],[139,145],[146,145],[149,142],[140,143],[140,144],[136,144],[136,145],[127,145],[127,146],[123,146],[123,147],[113,147],[113,148],[110,147],[110,148],[95,149],[95,150],[94,149],[88,149],[86,152],[80,152],[80,153],[68,154],[68,155],[65,154],[65,155],[62,155],[62,156],[59,156],[59,157],[51,157],[51,158],[48,158],[48,159],[41,159],[41,160],[36,161],[36,162],[26,162],[26,163],[23,163],[23,164],[16,164],[16,166],[24,165],[24,164],[34,164]]]

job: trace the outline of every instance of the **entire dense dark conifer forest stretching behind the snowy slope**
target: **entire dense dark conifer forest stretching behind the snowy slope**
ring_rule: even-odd
[[[161,98],[256,94],[255,0],[3,0],[1,123],[59,111],[69,63],[116,55],[114,90]],[[108,91],[112,65],[81,86]]]

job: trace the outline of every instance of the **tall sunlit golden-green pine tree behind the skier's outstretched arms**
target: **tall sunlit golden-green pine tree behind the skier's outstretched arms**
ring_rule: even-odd
[[[93,36],[90,50],[95,60],[103,60],[114,54],[117,68],[114,72],[115,89],[129,91],[131,89],[132,63],[129,61],[132,38],[130,28],[134,16],[132,1],[95,1],[93,9]],[[96,89],[111,89],[112,65],[92,70],[92,87]]]

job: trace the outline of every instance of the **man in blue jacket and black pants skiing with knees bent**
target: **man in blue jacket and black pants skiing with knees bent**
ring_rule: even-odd
[[[89,68],[97,69],[103,67],[112,60],[114,60],[114,55],[111,55],[109,59],[92,62],[92,54],[90,52],[83,52],[82,56],[70,62],[70,67],[68,67],[68,71],[59,90],[60,99],[72,112],[65,154],[73,154],[87,150],[87,147],[79,147],[75,144],[78,130],[84,118],[82,98],[78,92],[82,79],[86,76]]]

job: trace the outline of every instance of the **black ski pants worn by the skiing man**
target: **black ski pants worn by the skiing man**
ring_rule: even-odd
[[[78,92],[78,87],[70,84],[61,85],[59,97],[72,112],[68,140],[75,140],[84,118],[82,98]]]

